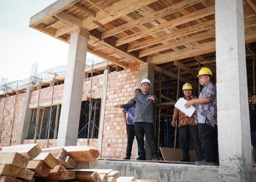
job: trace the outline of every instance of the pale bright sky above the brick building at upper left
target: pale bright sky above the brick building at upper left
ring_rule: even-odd
[[[67,64],[69,44],[29,27],[30,17],[54,1],[0,0],[0,78],[28,78],[34,62],[38,73]]]

